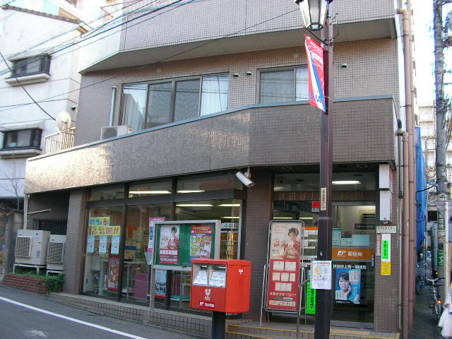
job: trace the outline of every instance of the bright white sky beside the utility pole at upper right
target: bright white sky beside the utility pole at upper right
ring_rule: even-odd
[[[412,0],[414,12],[413,30],[415,34],[415,62],[417,103],[432,104],[434,100],[434,40],[433,40],[433,1]],[[452,11],[452,4],[443,6],[443,18]],[[452,47],[444,50],[446,71],[452,65]],[[447,61],[448,64],[447,64]],[[444,82],[452,83],[452,74],[446,73]],[[446,96],[451,98],[452,85],[445,88]]]

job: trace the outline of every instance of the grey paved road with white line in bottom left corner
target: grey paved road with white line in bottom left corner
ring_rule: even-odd
[[[100,316],[40,295],[0,285],[0,338],[182,339],[195,338],[141,323]]]

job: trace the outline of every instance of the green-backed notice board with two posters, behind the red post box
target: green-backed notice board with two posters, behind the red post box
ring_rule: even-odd
[[[219,258],[220,220],[156,221],[154,267],[190,270],[194,258]]]

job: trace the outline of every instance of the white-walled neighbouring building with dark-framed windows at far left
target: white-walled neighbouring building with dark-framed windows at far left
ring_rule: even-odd
[[[111,17],[105,16],[100,4],[112,1],[97,1],[97,7],[93,7],[95,2],[88,1],[79,9],[74,6],[77,1],[1,1],[4,6],[0,9],[0,52],[8,63],[0,59],[2,214],[11,208],[23,208],[28,157],[73,146],[81,75],[79,50],[69,45]],[[83,5],[83,1],[78,5]],[[94,20],[102,16],[105,18]],[[69,112],[73,121],[72,129],[64,133],[58,133],[55,121],[60,112]],[[43,218],[59,218],[61,222],[67,216]],[[0,223],[0,248],[3,242],[6,244],[6,224]],[[3,266],[1,255],[0,266]]]

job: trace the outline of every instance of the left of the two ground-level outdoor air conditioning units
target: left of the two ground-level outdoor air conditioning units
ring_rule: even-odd
[[[45,265],[49,231],[18,230],[16,238],[16,263]]]

